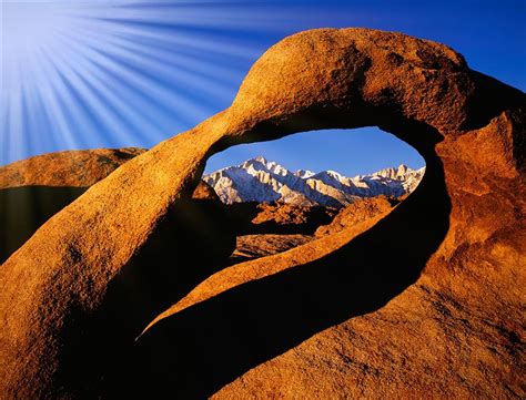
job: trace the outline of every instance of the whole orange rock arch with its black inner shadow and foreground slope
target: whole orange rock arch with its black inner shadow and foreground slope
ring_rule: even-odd
[[[2,265],[1,392],[524,398],[524,122],[523,92],[443,44],[366,29],[286,38],[227,110],[115,170]],[[365,125],[424,156],[405,202],[361,233],[224,269],[212,297],[189,295],[117,351],[151,314],[136,312],[134,258],[206,157]]]

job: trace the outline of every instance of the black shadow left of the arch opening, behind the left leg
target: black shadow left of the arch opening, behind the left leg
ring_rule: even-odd
[[[97,312],[72,307],[65,316],[61,341],[75,350],[59,356],[59,387],[68,386],[79,398],[100,397],[114,371],[128,370],[128,357],[144,326],[225,265],[235,236],[223,205],[190,196],[169,209],[108,286]]]

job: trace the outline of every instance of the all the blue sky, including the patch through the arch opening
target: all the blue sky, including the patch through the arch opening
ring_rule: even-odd
[[[526,89],[526,1],[2,1],[0,164],[70,148],[150,147],[227,107],[273,43],[367,27],[446,43],[472,69]],[[406,163],[376,129],[233,147],[208,171],[262,154],[346,175]]]

